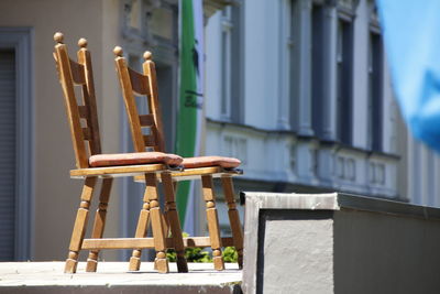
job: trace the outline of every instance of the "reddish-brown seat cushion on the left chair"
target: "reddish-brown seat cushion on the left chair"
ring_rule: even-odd
[[[97,154],[97,155],[91,155],[89,157],[89,165],[91,167],[152,164],[152,163],[180,165],[182,162],[183,159],[179,155],[167,154],[163,152]]]

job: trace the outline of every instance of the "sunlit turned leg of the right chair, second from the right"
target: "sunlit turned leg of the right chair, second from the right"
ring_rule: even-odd
[[[221,255],[219,217],[217,215],[217,208],[216,208],[216,195],[213,192],[212,176],[202,175],[201,186],[202,186],[204,198],[207,206],[208,230],[209,230],[209,238],[211,240],[213,268],[218,271],[222,271],[224,270],[224,262]]]

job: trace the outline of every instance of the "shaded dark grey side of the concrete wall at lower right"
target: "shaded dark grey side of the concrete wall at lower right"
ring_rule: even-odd
[[[440,221],[334,214],[334,293],[438,293]]]

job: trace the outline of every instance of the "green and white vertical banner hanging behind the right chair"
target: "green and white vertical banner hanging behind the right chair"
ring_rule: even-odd
[[[202,9],[200,0],[180,1],[179,104],[176,153],[184,157],[198,155],[201,115],[201,39]],[[201,32],[201,35],[200,35]],[[179,182],[177,207],[182,222],[188,225],[191,182]],[[189,207],[189,209],[188,209]],[[188,211],[189,210],[189,211]]]

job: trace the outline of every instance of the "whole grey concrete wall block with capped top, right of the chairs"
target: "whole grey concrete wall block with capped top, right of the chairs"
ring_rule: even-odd
[[[245,193],[245,293],[438,293],[440,209]]]

